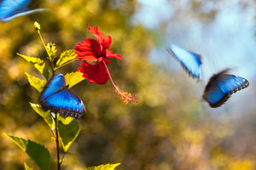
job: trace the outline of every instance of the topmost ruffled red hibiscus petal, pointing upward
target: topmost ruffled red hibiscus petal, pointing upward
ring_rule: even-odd
[[[98,42],[100,42],[100,44],[102,45],[102,51],[109,48],[112,42],[112,39],[110,36],[106,36],[105,34],[100,32],[98,29],[98,26],[91,27],[90,25],[88,25],[88,29],[97,38]]]

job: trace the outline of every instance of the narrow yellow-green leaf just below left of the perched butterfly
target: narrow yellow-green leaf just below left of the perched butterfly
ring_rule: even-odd
[[[55,120],[50,115],[49,111],[43,111],[41,105],[29,103],[34,111],[38,113],[38,115],[44,118],[44,121],[49,125],[51,130],[55,129]]]

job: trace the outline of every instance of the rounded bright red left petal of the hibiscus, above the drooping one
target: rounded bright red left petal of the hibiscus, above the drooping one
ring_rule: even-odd
[[[80,60],[97,61],[98,55],[101,53],[101,45],[96,40],[87,38],[76,45],[75,52]]]

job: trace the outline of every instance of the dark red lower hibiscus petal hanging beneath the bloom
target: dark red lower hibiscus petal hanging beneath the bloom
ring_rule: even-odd
[[[81,68],[78,68],[78,71],[82,72],[83,77],[89,82],[94,82],[96,84],[105,84],[109,79],[108,71],[102,62],[96,65],[82,62]]]

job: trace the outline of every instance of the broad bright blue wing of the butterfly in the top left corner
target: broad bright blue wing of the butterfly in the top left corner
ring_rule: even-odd
[[[30,0],[3,0],[0,3],[0,19],[4,20],[13,14],[24,11]]]

